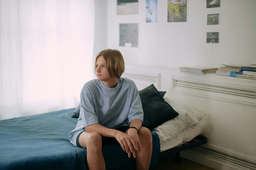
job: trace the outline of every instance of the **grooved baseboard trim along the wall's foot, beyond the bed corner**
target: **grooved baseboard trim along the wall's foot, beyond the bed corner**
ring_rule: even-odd
[[[180,156],[216,170],[255,170],[256,160],[213,146],[196,147]]]

